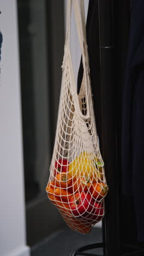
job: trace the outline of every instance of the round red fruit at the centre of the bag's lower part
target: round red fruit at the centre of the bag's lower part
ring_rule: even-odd
[[[94,200],[87,193],[76,193],[71,196],[69,205],[74,216],[83,216],[92,211]]]

